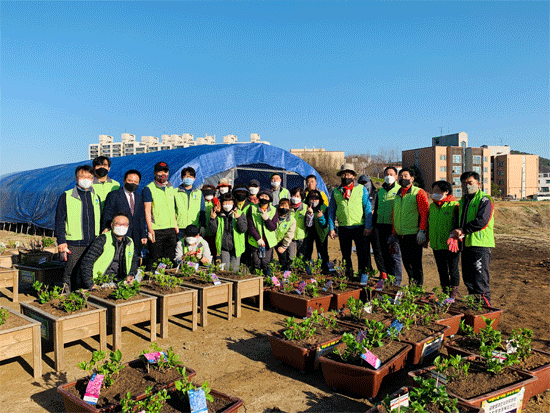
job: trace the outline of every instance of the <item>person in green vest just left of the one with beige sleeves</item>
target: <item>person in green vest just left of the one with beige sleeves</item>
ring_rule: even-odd
[[[251,205],[246,212],[248,221],[248,243],[252,256],[252,272],[262,270],[268,273],[273,259],[273,247],[277,245],[277,222],[279,216],[272,205],[270,191],[258,193],[258,205]]]

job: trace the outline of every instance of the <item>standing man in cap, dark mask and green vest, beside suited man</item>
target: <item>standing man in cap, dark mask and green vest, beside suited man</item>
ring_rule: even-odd
[[[161,258],[173,260],[176,255],[178,226],[176,223],[175,190],[168,181],[166,162],[155,164],[155,179],[141,192],[149,238],[147,269]]]

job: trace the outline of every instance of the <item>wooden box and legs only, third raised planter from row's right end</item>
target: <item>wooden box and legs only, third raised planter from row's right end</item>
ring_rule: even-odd
[[[146,295],[157,297],[157,321],[160,323],[160,338],[168,338],[168,317],[191,313],[191,331],[197,329],[197,290],[185,290],[177,293],[162,294],[141,287]]]

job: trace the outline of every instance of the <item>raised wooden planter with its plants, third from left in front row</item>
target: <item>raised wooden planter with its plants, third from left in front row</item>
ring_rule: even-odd
[[[89,300],[107,309],[107,329],[113,334],[113,349],[122,346],[122,327],[149,321],[151,342],[157,335],[157,298],[140,292],[135,281],[113,284],[106,275],[98,274],[99,289],[90,290]],[[113,286],[114,285],[114,286]]]

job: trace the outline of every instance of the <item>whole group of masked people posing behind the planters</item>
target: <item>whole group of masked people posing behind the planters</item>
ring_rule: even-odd
[[[421,285],[422,253],[429,243],[443,289],[456,296],[462,255],[468,292],[490,303],[493,202],[476,172],[462,174],[459,202],[450,183],[437,181],[430,203],[426,191],[414,185],[413,171],[393,166],[384,170],[377,190],[368,176],[357,179],[352,164],[342,165],[341,183],[330,198],[317,188],[315,175],[306,177],[305,188],[284,188],[282,175],[273,173],[269,189],[257,180],[233,187],[226,179],[198,189],[196,171],[186,167],[174,188],[169,166],[158,162],[153,181],[140,192],[139,171],[126,171],[121,186],[109,178],[110,167],[103,156],[92,166],[78,166],[76,185],[57,203],[55,235],[67,261],[64,282],[73,289],[92,288],[102,274],[129,280],[139,256],[148,269],[162,258],[179,263],[194,257],[203,265],[219,260],[232,271],[242,263],[267,275],[275,253],[280,267],[289,270],[294,257],[309,262],[315,246],[329,271],[328,238],[338,237],[350,279],[366,282],[373,272],[372,250],[382,277],[391,274],[400,285],[403,266],[409,283]]]

